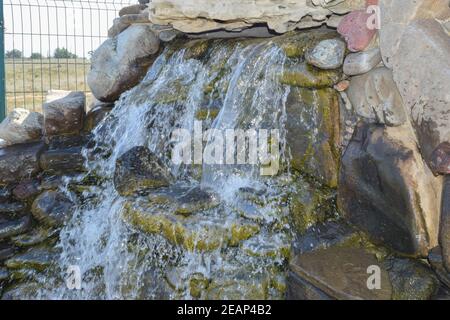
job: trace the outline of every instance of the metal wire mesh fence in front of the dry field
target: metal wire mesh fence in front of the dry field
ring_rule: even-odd
[[[118,11],[133,3],[137,0],[0,0],[4,111],[39,111],[49,90],[85,91],[89,101],[90,55]]]

